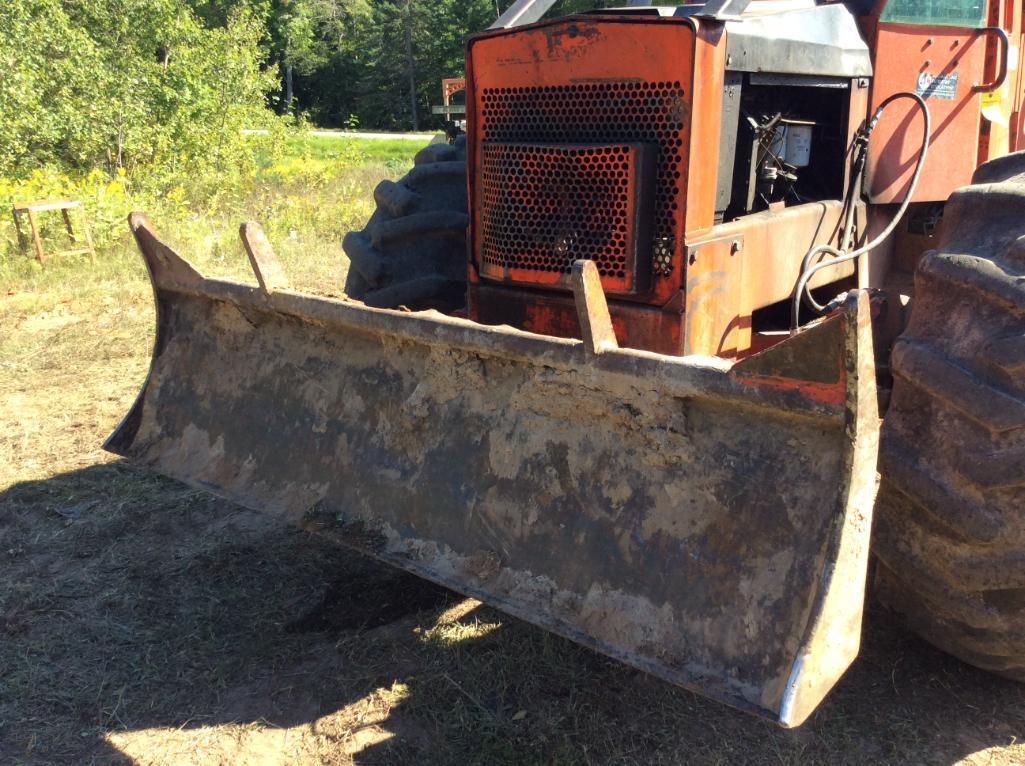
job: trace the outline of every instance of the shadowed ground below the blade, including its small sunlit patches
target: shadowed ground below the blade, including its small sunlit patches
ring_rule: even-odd
[[[4,492],[0,552],[4,763],[1025,759],[1025,686],[879,609],[782,731],[122,462]]]

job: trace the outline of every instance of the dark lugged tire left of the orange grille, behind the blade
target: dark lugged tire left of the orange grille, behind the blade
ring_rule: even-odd
[[[466,296],[465,136],[420,150],[413,169],[374,190],[377,209],[342,240],[345,294],[377,309],[451,313]]]

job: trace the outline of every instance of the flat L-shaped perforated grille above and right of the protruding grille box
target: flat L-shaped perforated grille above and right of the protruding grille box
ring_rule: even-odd
[[[653,235],[680,241],[684,119],[679,82],[612,82],[484,88],[484,142],[657,144]]]

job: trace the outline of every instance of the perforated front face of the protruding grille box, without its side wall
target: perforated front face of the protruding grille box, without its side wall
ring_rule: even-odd
[[[623,145],[485,144],[483,261],[569,274],[589,258],[602,276],[625,278],[633,154]]]

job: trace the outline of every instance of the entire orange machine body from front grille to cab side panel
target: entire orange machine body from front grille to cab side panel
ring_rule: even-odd
[[[766,199],[757,208],[750,207],[752,193],[746,209],[725,216],[731,174],[744,172],[739,159],[734,167],[733,153],[742,156],[737,135],[746,111],[738,115],[730,99],[741,83],[771,93],[776,77],[756,68],[731,71],[736,53],[728,38],[737,28],[650,11],[596,13],[471,38],[469,317],[579,337],[570,274],[574,260],[586,258],[598,266],[622,346],[738,358],[771,345],[774,333],[760,327],[760,317],[787,300],[811,247],[835,244],[851,184],[846,148],[876,105],[893,92],[925,88],[935,159],[915,200],[946,199],[986,159],[977,151],[988,124],[978,88],[993,76],[992,36],[880,22],[881,8],[858,18],[874,77],[819,78],[817,92],[798,94],[806,110],[832,115],[810,128],[817,153],[825,147],[833,158],[807,173],[822,174],[823,189],[813,197]],[[1020,41],[1020,13],[1012,16]],[[935,74],[953,71],[956,78]],[[809,84],[793,71],[778,78],[795,93]],[[1006,100],[1020,105],[1011,90],[1021,88],[1017,69],[1008,81],[1014,85]],[[940,86],[929,92],[932,82]],[[829,106],[816,108],[816,100]],[[854,216],[861,241],[873,203],[899,202],[906,192],[919,119],[898,104],[873,133],[867,200]],[[1020,122],[1017,114],[1013,119]],[[1017,125],[987,151],[1015,149]],[[750,178],[753,186],[753,169]],[[837,266],[813,286],[854,284],[855,271],[850,263]]]

